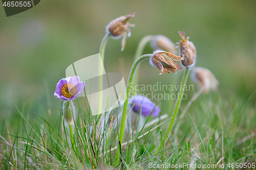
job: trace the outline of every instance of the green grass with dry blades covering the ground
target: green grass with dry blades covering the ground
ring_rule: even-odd
[[[79,103],[82,102],[80,98]],[[166,105],[167,102],[163,107]],[[182,104],[182,108],[184,106],[185,103]],[[118,162],[118,168],[124,166],[143,169],[150,166],[149,163],[172,165],[191,162],[197,164],[255,162],[254,106],[255,91],[247,101],[232,96],[223,98],[219,92],[202,94],[183,117],[178,115],[172,134],[165,144],[163,138],[171,114],[143,130],[137,131],[136,126],[132,125],[131,132],[126,131],[124,141],[129,142],[123,143],[121,147],[123,161]],[[19,124],[6,124],[7,118],[2,124],[0,159],[2,169],[115,167],[115,153],[119,152],[117,130],[111,128],[109,131],[104,128],[102,133],[104,137],[101,137],[97,130],[99,117],[95,126],[95,117],[89,118],[87,109],[80,109],[81,106],[79,107],[77,103],[78,121],[74,130],[76,145],[72,149],[61,110],[42,108],[45,112],[44,116],[38,115],[38,121],[31,121],[29,115],[24,114],[27,107],[24,105],[22,108],[16,108],[21,117]],[[114,112],[113,116],[115,116]],[[53,114],[59,116],[53,117]],[[145,124],[150,120],[152,118],[149,118]],[[159,145],[161,150],[158,152]],[[225,167],[225,169],[229,168]]]

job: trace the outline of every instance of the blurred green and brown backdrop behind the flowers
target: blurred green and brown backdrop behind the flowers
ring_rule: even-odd
[[[173,42],[184,29],[197,48],[196,66],[210,69],[220,82],[223,98],[245,101],[256,84],[256,1],[41,1],[34,8],[6,17],[0,7],[0,122],[17,108],[42,114],[48,107],[59,114],[53,93],[66,68],[97,54],[108,23],[136,12],[132,36],[121,52],[121,39],[110,39],[106,72],[121,72],[125,81],[139,40],[162,34]],[[144,53],[152,53],[148,44]],[[144,61],[141,84],[168,84],[178,74],[159,76]],[[190,81],[190,80],[189,80]],[[49,100],[47,103],[47,96]],[[46,110],[45,110],[46,111]],[[17,120],[19,121],[19,120]]]

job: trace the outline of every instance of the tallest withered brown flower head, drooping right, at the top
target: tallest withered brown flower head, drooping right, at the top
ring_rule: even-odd
[[[135,13],[120,16],[119,18],[116,18],[113,21],[111,21],[109,25],[106,26],[106,33],[111,34],[113,38],[123,37],[121,51],[123,51],[124,49],[127,36],[131,36],[131,30],[128,27],[135,26],[134,24],[128,22],[134,16]]]

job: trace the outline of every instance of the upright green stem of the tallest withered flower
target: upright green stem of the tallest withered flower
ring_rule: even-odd
[[[111,36],[111,34],[106,33],[100,43],[99,54],[101,56],[103,64],[104,64],[104,52],[105,52],[106,42],[108,42],[110,36]],[[102,75],[102,73],[103,73],[103,65],[100,63],[99,64],[99,75]],[[101,110],[102,110],[102,81],[103,81],[102,78],[103,78],[102,76],[99,76],[99,96],[98,96],[98,111],[97,111],[97,113],[101,113]]]

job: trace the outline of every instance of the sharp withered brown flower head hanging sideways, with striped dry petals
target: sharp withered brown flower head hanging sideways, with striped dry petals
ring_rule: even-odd
[[[157,50],[153,53],[152,58],[150,59],[150,64],[163,74],[164,72],[170,73],[170,71],[175,72],[177,69],[182,69],[177,63],[174,61],[181,61],[182,57],[176,56],[172,53],[168,53],[165,51]]]

